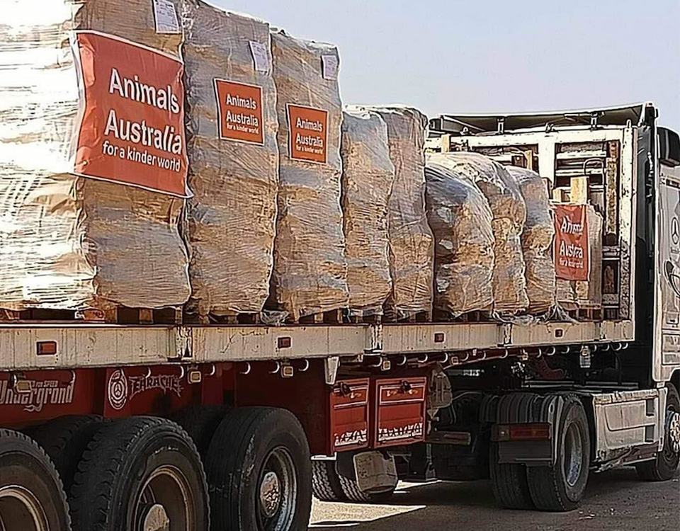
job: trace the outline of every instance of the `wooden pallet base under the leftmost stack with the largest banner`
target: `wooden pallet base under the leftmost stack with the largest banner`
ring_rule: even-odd
[[[182,324],[182,309],[172,308],[126,308],[62,310],[33,308],[25,310],[0,309],[3,322],[58,322],[108,324]]]

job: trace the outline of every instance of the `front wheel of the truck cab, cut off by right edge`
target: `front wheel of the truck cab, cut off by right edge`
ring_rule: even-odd
[[[664,450],[656,459],[635,465],[638,476],[645,481],[667,481],[675,475],[680,463],[680,397],[671,383],[666,384],[666,421]]]

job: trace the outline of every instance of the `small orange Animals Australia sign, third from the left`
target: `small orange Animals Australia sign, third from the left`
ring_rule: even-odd
[[[287,105],[288,154],[291,159],[325,163],[327,160],[328,111]]]

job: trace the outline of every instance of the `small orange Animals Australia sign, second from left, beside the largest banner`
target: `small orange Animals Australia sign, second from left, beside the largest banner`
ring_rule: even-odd
[[[264,144],[261,87],[215,79],[215,96],[220,138]]]

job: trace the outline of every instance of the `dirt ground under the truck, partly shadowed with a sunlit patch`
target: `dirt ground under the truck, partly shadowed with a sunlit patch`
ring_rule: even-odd
[[[571,513],[501,510],[487,481],[400,484],[390,506],[314,500],[314,531],[680,531],[680,479],[638,481],[635,469],[594,474]]]

